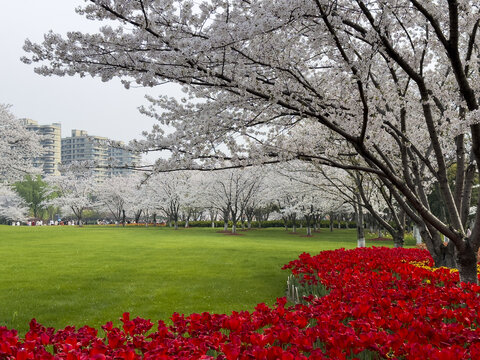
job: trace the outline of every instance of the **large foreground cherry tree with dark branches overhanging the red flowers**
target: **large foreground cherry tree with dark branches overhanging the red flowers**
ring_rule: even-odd
[[[476,1],[91,0],[77,11],[107,25],[27,41],[24,61],[43,75],[183,85],[185,102],[151,98],[144,109],[175,130],[157,126],[134,144],[172,151],[156,170],[296,158],[374,174],[423,221],[437,265],[443,234],[461,280],[478,281],[480,212],[467,236],[464,211],[480,167]],[[295,131],[306,135],[293,141]],[[439,184],[445,221],[429,209],[425,174]]]

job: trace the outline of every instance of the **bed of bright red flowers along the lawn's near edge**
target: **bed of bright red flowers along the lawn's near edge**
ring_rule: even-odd
[[[425,250],[361,248],[302,254],[287,264],[329,294],[253,312],[173,314],[172,325],[131,320],[121,328],[54,331],[30,323],[20,339],[0,327],[0,359],[477,359],[480,287],[432,271]]]

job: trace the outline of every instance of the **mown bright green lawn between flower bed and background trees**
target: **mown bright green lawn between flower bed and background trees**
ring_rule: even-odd
[[[385,245],[376,242],[373,245]],[[372,245],[372,244],[368,244]],[[314,237],[282,229],[0,226],[0,326],[99,327],[124,311],[230,313],[284,296],[282,265],[303,251],[356,246],[355,230]]]

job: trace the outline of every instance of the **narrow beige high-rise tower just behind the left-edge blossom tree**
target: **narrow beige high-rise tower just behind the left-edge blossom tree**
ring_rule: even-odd
[[[62,125],[59,123],[39,125],[32,119],[22,120],[28,130],[40,135],[40,143],[45,149],[43,154],[34,157],[33,165],[42,168],[44,175],[60,175],[58,165],[62,161]]]

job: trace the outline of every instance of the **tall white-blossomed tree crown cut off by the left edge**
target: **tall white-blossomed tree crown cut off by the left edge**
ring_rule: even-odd
[[[43,151],[39,136],[28,131],[9,106],[0,104],[0,182],[13,182],[38,173],[33,158]]]

